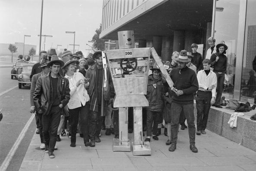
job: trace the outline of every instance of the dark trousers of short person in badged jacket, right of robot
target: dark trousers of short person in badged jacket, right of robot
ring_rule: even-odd
[[[157,126],[162,119],[162,112],[147,110],[147,137],[151,137],[152,134],[156,135]],[[153,131],[152,131],[153,124]]]

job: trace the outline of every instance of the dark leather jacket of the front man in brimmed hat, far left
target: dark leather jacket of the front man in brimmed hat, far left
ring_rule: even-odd
[[[37,84],[34,90],[34,105],[36,111],[41,109],[43,114],[48,115],[53,105],[53,87],[51,86],[50,73],[38,78]],[[62,103],[62,109],[68,104],[70,99],[69,80],[59,74],[57,83],[57,94],[60,103]]]

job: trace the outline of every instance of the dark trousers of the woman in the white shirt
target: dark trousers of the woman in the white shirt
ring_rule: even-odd
[[[89,140],[89,128],[94,128],[95,125],[89,125],[89,117],[90,117],[90,104],[85,103],[85,105],[69,109],[70,120],[71,120],[71,143],[76,142],[76,132],[78,127],[79,117],[81,118],[81,131],[84,134],[84,143]],[[92,135],[91,135],[92,136]]]

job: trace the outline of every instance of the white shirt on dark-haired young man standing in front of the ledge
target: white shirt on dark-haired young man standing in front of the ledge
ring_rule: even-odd
[[[197,72],[197,81],[199,85],[199,90],[207,91],[207,88],[211,85],[215,85],[215,88],[212,90],[212,97],[215,97],[216,87],[217,87],[217,76],[216,74],[210,70],[209,74],[206,75],[204,70]]]

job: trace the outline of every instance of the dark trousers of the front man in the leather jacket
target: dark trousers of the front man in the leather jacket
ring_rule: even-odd
[[[44,144],[49,146],[49,152],[53,152],[56,145],[60,114],[59,106],[54,106],[50,109],[48,115],[42,115]]]

